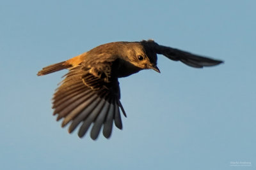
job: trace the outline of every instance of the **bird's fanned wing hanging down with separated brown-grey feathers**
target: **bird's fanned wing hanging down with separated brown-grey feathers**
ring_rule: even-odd
[[[120,87],[116,77],[111,76],[111,62],[98,63],[95,66],[83,62],[70,69],[61,81],[60,87],[53,97],[54,115],[57,120],[63,119],[62,127],[71,122],[68,132],[74,131],[81,124],[78,136],[81,138],[91,124],[91,138],[103,134],[109,138],[113,121],[118,129],[122,129],[120,108]],[[125,115],[126,117],[126,115]]]

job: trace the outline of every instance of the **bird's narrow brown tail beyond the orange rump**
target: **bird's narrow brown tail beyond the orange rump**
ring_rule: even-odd
[[[42,70],[38,71],[38,76],[44,76],[45,74],[54,73],[56,71],[60,71],[61,69],[67,69],[69,67],[72,67],[71,64],[67,64],[67,62],[59,62],[56,64],[52,64],[50,66],[44,67]]]

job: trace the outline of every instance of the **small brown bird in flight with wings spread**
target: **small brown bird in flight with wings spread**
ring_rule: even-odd
[[[84,136],[92,125],[91,138],[97,139],[101,127],[109,138],[113,122],[122,129],[118,78],[157,67],[157,53],[171,60],[180,60],[191,67],[215,66],[221,60],[209,59],[175,48],[158,45],[153,40],[114,42],[97,46],[76,57],[44,67],[38,76],[69,69],[53,96],[53,115],[63,118],[62,127],[71,122],[68,132],[80,125],[78,136]]]

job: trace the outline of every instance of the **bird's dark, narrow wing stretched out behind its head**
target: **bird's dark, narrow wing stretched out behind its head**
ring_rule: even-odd
[[[214,60],[208,57],[202,57],[200,55],[195,55],[193,53],[184,52],[182,50],[171,48],[168,46],[163,45],[155,45],[154,49],[156,53],[163,54],[164,56],[168,57],[171,60],[180,60],[184,64],[187,64],[191,67],[205,67],[205,66],[215,66],[223,61],[221,60]]]

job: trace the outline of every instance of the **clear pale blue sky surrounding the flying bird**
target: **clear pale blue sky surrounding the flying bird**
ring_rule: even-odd
[[[0,169],[255,169],[256,1],[1,1]],[[68,134],[44,66],[111,41],[225,60],[204,69],[159,55],[120,79],[127,118],[110,139]],[[231,167],[230,162],[251,162]]]

